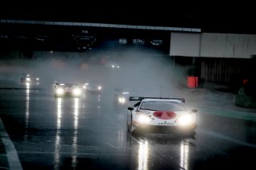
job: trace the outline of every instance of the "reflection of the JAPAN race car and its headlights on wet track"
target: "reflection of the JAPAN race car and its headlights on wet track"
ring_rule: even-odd
[[[195,149],[190,138],[166,134],[131,136],[132,156],[136,156],[136,169],[192,169],[190,148]]]

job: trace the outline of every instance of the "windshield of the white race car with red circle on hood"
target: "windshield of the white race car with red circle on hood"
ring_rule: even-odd
[[[140,109],[186,111],[186,107],[175,101],[142,101]]]

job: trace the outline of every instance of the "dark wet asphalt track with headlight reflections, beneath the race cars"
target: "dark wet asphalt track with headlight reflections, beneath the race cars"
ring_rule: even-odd
[[[113,93],[58,99],[49,89],[0,89],[0,117],[23,169],[255,168],[255,121],[199,112],[194,138],[131,136]]]

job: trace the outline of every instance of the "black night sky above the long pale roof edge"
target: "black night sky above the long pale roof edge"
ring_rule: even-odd
[[[146,26],[201,28],[206,32],[256,34],[255,12],[250,4],[223,2],[8,2],[2,4],[2,19],[59,22],[102,22]],[[15,4],[15,5],[14,5]],[[3,7],[5,6],[5,7]]]

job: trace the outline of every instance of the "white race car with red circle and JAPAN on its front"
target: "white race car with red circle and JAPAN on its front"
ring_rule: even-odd
[[[197,127],[196,109],[189,111],[183,98],[130,97],[139,101],[128,108],[127,130],[161,130],[192,134]]]

